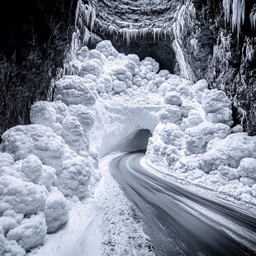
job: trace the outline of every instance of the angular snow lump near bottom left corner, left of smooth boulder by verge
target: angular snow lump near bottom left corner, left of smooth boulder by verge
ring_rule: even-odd
[[[45,216],[33,215],[21,221],[15,229],[7,233],[8,240],[16,240],[26,251],[45,244],[46,238]]]

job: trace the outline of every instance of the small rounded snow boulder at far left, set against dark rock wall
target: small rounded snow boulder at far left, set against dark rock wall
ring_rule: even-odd
[[[30,118],[32,124],[52,127],[56,121],[56,111],[51,102],[36,102],[31,106]]]

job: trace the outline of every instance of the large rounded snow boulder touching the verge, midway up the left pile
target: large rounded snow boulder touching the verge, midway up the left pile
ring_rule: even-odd
[[[82,156],[64,161],[64,169],[57,174],[56,187],[65,196],[78,198],[88,193],[88,184],[92,174],[92,164],[89,159]]]

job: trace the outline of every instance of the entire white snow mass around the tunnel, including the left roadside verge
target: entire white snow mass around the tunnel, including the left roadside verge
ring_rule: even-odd
[[[0,254],[52,255],[51,240],[69,247],[72,235],[90,246],[86,232],[94,230],[97,254],[145,255],[151,244],[143,225],[107,174],[108,162],[100,164],[113,151],[140,149],[132,139],[144,129],[153,134],[146,163],[255,205],[256,137],[233,125],[224,92],[159,70],[150,57],[120,54],[109,40],[83,46],[70,69],[55,83],[53,102],[31,107],[30,125],[2,135]]]

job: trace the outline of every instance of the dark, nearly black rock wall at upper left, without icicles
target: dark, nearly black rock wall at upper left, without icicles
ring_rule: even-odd
[[[36,100],[50,98],[74,29],[76,0],[8,1],[0,16],[0,135],[29,123]]]

